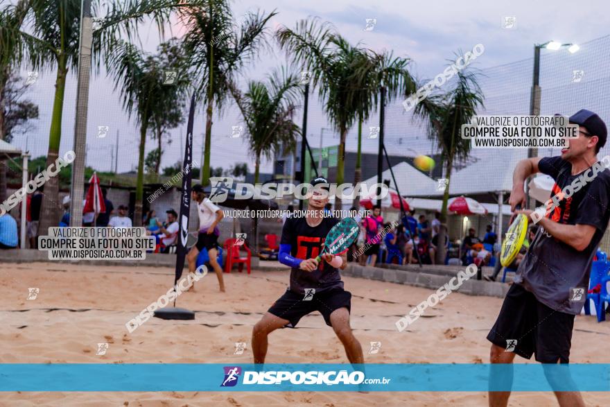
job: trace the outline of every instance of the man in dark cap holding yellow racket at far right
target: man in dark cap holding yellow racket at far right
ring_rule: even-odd
[[[549,205],[548,214],[539,219],[539,230],[519,265],[515,284],[487,335],[493,344],[491,363],[512,363],[515,354],[528,359],[535,354],[541,363],[569,361],[574,318],[584,304],[584,300],[572,300],[577,298],[572,293],[577,292],[574,288],[584,288],[586,293],[591,261],[610,217],[610,171],[594,165],[606,144],[606,125],[589,110],[580,110],[569,120],[579,125],[579,134],[568,139],[560,157],[523,159],[513,173],[509,198],[513,210],[525,205],[523,185],[534,173],[555,179],[552,199],[556,205]],[[530,210],[516,213],[535,220]],[[515,345],[512,352],[506,350],[509,342]],[[569,376],[557,376],[552,367],[545,373],[552,388],[570,384]],[[512,377],[502,380],[506,383]],[[489,406],[506,406],[509,395],[489,392]],[[555,396],[560,406],[584,406],[580,392],[556,391]]]

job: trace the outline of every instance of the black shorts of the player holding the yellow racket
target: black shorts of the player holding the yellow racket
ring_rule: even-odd
[[[516,340],[513,352],[526,359],[536,354],[541,363],[568,363],[574,317],[549,308],[521,284],[513,284],[487,339],[503,348],[508,340]]]

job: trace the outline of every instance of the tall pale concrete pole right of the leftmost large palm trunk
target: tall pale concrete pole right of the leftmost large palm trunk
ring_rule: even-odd
[[[82,225],[82,196],[85,193],[85,144],[87,143],[87,107],[89,105],[89,71],[93,26],[91,0],[80,3],[80,45],[78,53],[78,85],[76,90],[76,123],[74,124],[74,162],[70,191],[70,226]]]

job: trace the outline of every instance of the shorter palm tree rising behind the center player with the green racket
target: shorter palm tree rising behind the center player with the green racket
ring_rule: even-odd
[[[232,87],[254,155],[255,184],[259,182],[261,156],[271,159],[282,144],[289,150],[295,147],[299,126],[293,116],[301,96],[300,86],[296,76],[282,70],[270,75],[268,83],[251,81],[243,97]]]

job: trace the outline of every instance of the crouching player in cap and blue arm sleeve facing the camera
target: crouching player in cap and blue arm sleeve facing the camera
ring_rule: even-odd
[[[304,315],[313,311],[319,311],[326,324],[333,327],[349,361],[364,363],[362,347],[349,326],[351,293],[343,289],[339,270],[330,264],[335,256],[324,254],[320,264],[315,261],[326,234],[338,220],[324,217],[324,205],[329,202],[329,182],[324,177],[317,177],[311,184],[314,191],[308,200],[306,216],[287,218],[281,232],[278,259],[292,268],[290,285],[252,329],[254,363],[265,363],[267,336],[272,331],[294,328]],[[341,258],[343,270],[347,266],[347,255],[343,254]]]

